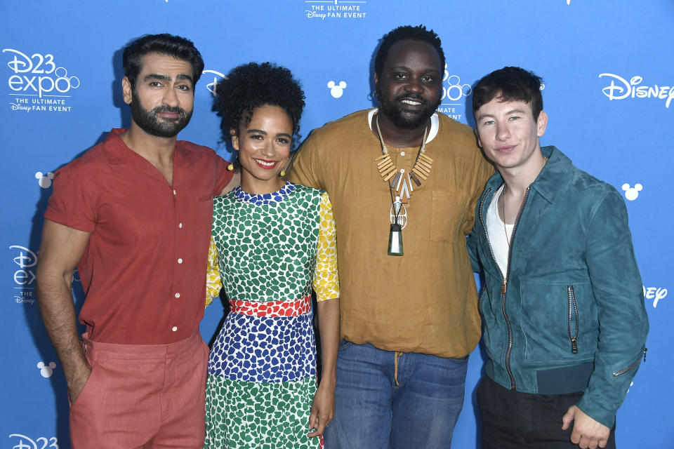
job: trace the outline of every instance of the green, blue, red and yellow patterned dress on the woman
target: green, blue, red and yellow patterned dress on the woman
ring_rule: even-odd
[[[309,438],[316,391],[311,290],[339,296],[328,195],[286,182],[213,204],[206,302],[224,286],[230,314],[211,349],[204,448],[322,448]]]

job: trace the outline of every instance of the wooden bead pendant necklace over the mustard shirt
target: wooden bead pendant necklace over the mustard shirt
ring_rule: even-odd
[[[389,220],[391,223],[391,229],[388,236],[388,255],[403,255],[402,248],[402,229],[407,226],[407,208],[405,208],[404,196],[407,196],[407,200],[410,199],[411,192],[414,192],[414,187],[412,187],[412,180],[416,184],[416,187],[421,186],[421,181],[419,177],[423,180],[427,180],[430,176],[430,168],[432,166],[433,160],[429,156],[426,156],[426,136],[428,135],[428,125],[423,130],[423,138],[421,139],[421,145],[419,146],[419,151],[416,154],[416,159],[414,161],[414,166],[409,170],[407,176],[404,176],[404,168],[398,170],[395,166],[395,163],[391,160],[390,154],[388,154],[388,148],[384,144],[384,138],[381,135],[381,129],[379,128],[379,116],[376,116],[376,127],[377,135],[379,137],[379,143],[381,144],[381,156],[378,156],[375,159],[377,164],[377,170],[383,178],[384,182],[388,182],[388,189],[391,194],[391,208],[389,211]],[[393,178],[391,182],[391,178]],[[395,186],[395,199],[393,195],[393,190]],[[402,201],[401,201],[402,199]]]

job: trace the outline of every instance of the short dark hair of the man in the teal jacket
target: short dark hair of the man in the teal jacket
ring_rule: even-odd
[[[503,67],[477,81],[473,87],[473,115],[494,98],[499,101],[523,101],[531,105],[534,119],[543,110],[543,79],[520,67]]]

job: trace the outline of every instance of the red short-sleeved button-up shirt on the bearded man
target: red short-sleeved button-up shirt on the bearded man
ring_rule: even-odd
[[[91,233],[77,269],[92,340],[178,342],[204,316],[213,196],[232,172],[212,149],[178,141],[169,185],[123,132],[56,172],[44,216]]]

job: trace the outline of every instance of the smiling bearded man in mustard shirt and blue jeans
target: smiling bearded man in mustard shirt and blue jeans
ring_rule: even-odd
[[[392,30],[375,60],[379,108],[315,130],[289,173],[328,192],[336,221],[342,340],[329,449],[449,447],[463,406],[480,339],[465,235],[493,169],[473,130],[435,112],[443,71],[435,32]]]

